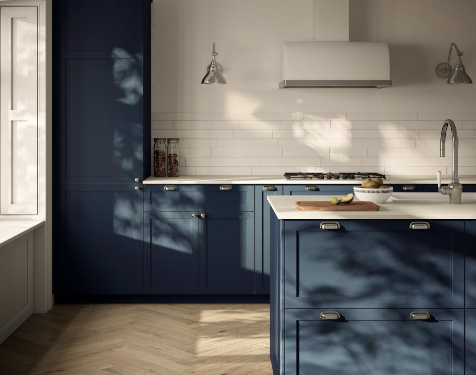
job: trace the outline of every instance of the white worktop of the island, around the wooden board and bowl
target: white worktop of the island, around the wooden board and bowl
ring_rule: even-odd
[[[388,200],[375,212],[300,211],[297,201],[329,201],[329,196],[286,195],[268,196],[268,201],[281,220],[476,220],[476,201],[464,204],[442,202],[399,202]],[[351,203],[352,204],[352,203]]]

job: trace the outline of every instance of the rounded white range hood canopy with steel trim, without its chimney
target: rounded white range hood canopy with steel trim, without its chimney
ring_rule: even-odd
[[[280,88],[391,86],[384,42],[284,42]]]

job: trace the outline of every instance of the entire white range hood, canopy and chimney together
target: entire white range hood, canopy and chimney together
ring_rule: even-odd
[[[391,86],[384,42],[349,41],[349,0],[314,0],[314,38],[284,42],[280,88]]]

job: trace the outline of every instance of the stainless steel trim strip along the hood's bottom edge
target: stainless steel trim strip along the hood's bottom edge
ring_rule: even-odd
[[[279,88],[383,88],[392,85],[391,79],[369,80],[300,80],[285,79],[279,83]]]

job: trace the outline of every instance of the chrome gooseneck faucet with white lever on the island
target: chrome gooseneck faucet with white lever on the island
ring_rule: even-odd
[[[436,177],[438,180],[438,191],[444,195],[450,196],[450,204],[461,204],[461,194],[463,193],[463,185],[458,181],[458,132],[453,120],[446,120],[441,128],[440,137],[440,156],[446,156],[446,130],[448,125],[451,128],[453,139],[453,179],[448,186],[441,186],[441,172],[438,171]]]

